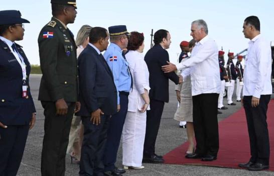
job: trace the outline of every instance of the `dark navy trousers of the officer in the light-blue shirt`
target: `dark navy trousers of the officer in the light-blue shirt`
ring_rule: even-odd
[[[120,145],[121,135],[123,131],[123,124],[125,121],[127,107],[128,107],[128,93],[120,92],[120,111],[109,120],[109,127],[107,130],[107,140],[104,151],[104,165],[105,171],[113,170],[117,158],[117,152]]]

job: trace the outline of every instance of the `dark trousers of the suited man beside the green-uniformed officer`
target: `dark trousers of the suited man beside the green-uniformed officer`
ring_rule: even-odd
[[[107,139],[109,116],[101,116],[101,123],[92,124],[90,117],[81,117],[84,140],[81,150],[79,175],[104,175],[103,154]]]

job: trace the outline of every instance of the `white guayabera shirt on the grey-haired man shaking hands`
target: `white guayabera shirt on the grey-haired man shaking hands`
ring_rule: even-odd
[[[214,40],[205,36],[191,52],[191,57],[176,65],[178,70],[184,69],[181,75],[191,75],[192,96],[200,94],[220,93],[220,68],[218,47]]]

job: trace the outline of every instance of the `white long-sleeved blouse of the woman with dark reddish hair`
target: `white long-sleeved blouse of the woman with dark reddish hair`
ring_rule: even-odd
[[[145,104],[141,95],[145,93],[145,89],[148,90],[148,92],[150,90],[150,73],[142,53],[129,50],[128,53],[126,53],[125,58],[129,63],[133,80],[133,87],[132,90],[129,91],[128,96],[127,111],[137,112],[138,110],[141,110]],[[150,110],[150,107],[148,110]]]

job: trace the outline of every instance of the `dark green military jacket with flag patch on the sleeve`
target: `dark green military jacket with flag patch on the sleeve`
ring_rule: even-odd
[[[78,101],[76,45],[72,33],[55,18],[44,26],[38,37],[41,78],[41,101]],[[52,32],[53,37],[44,36]]]

